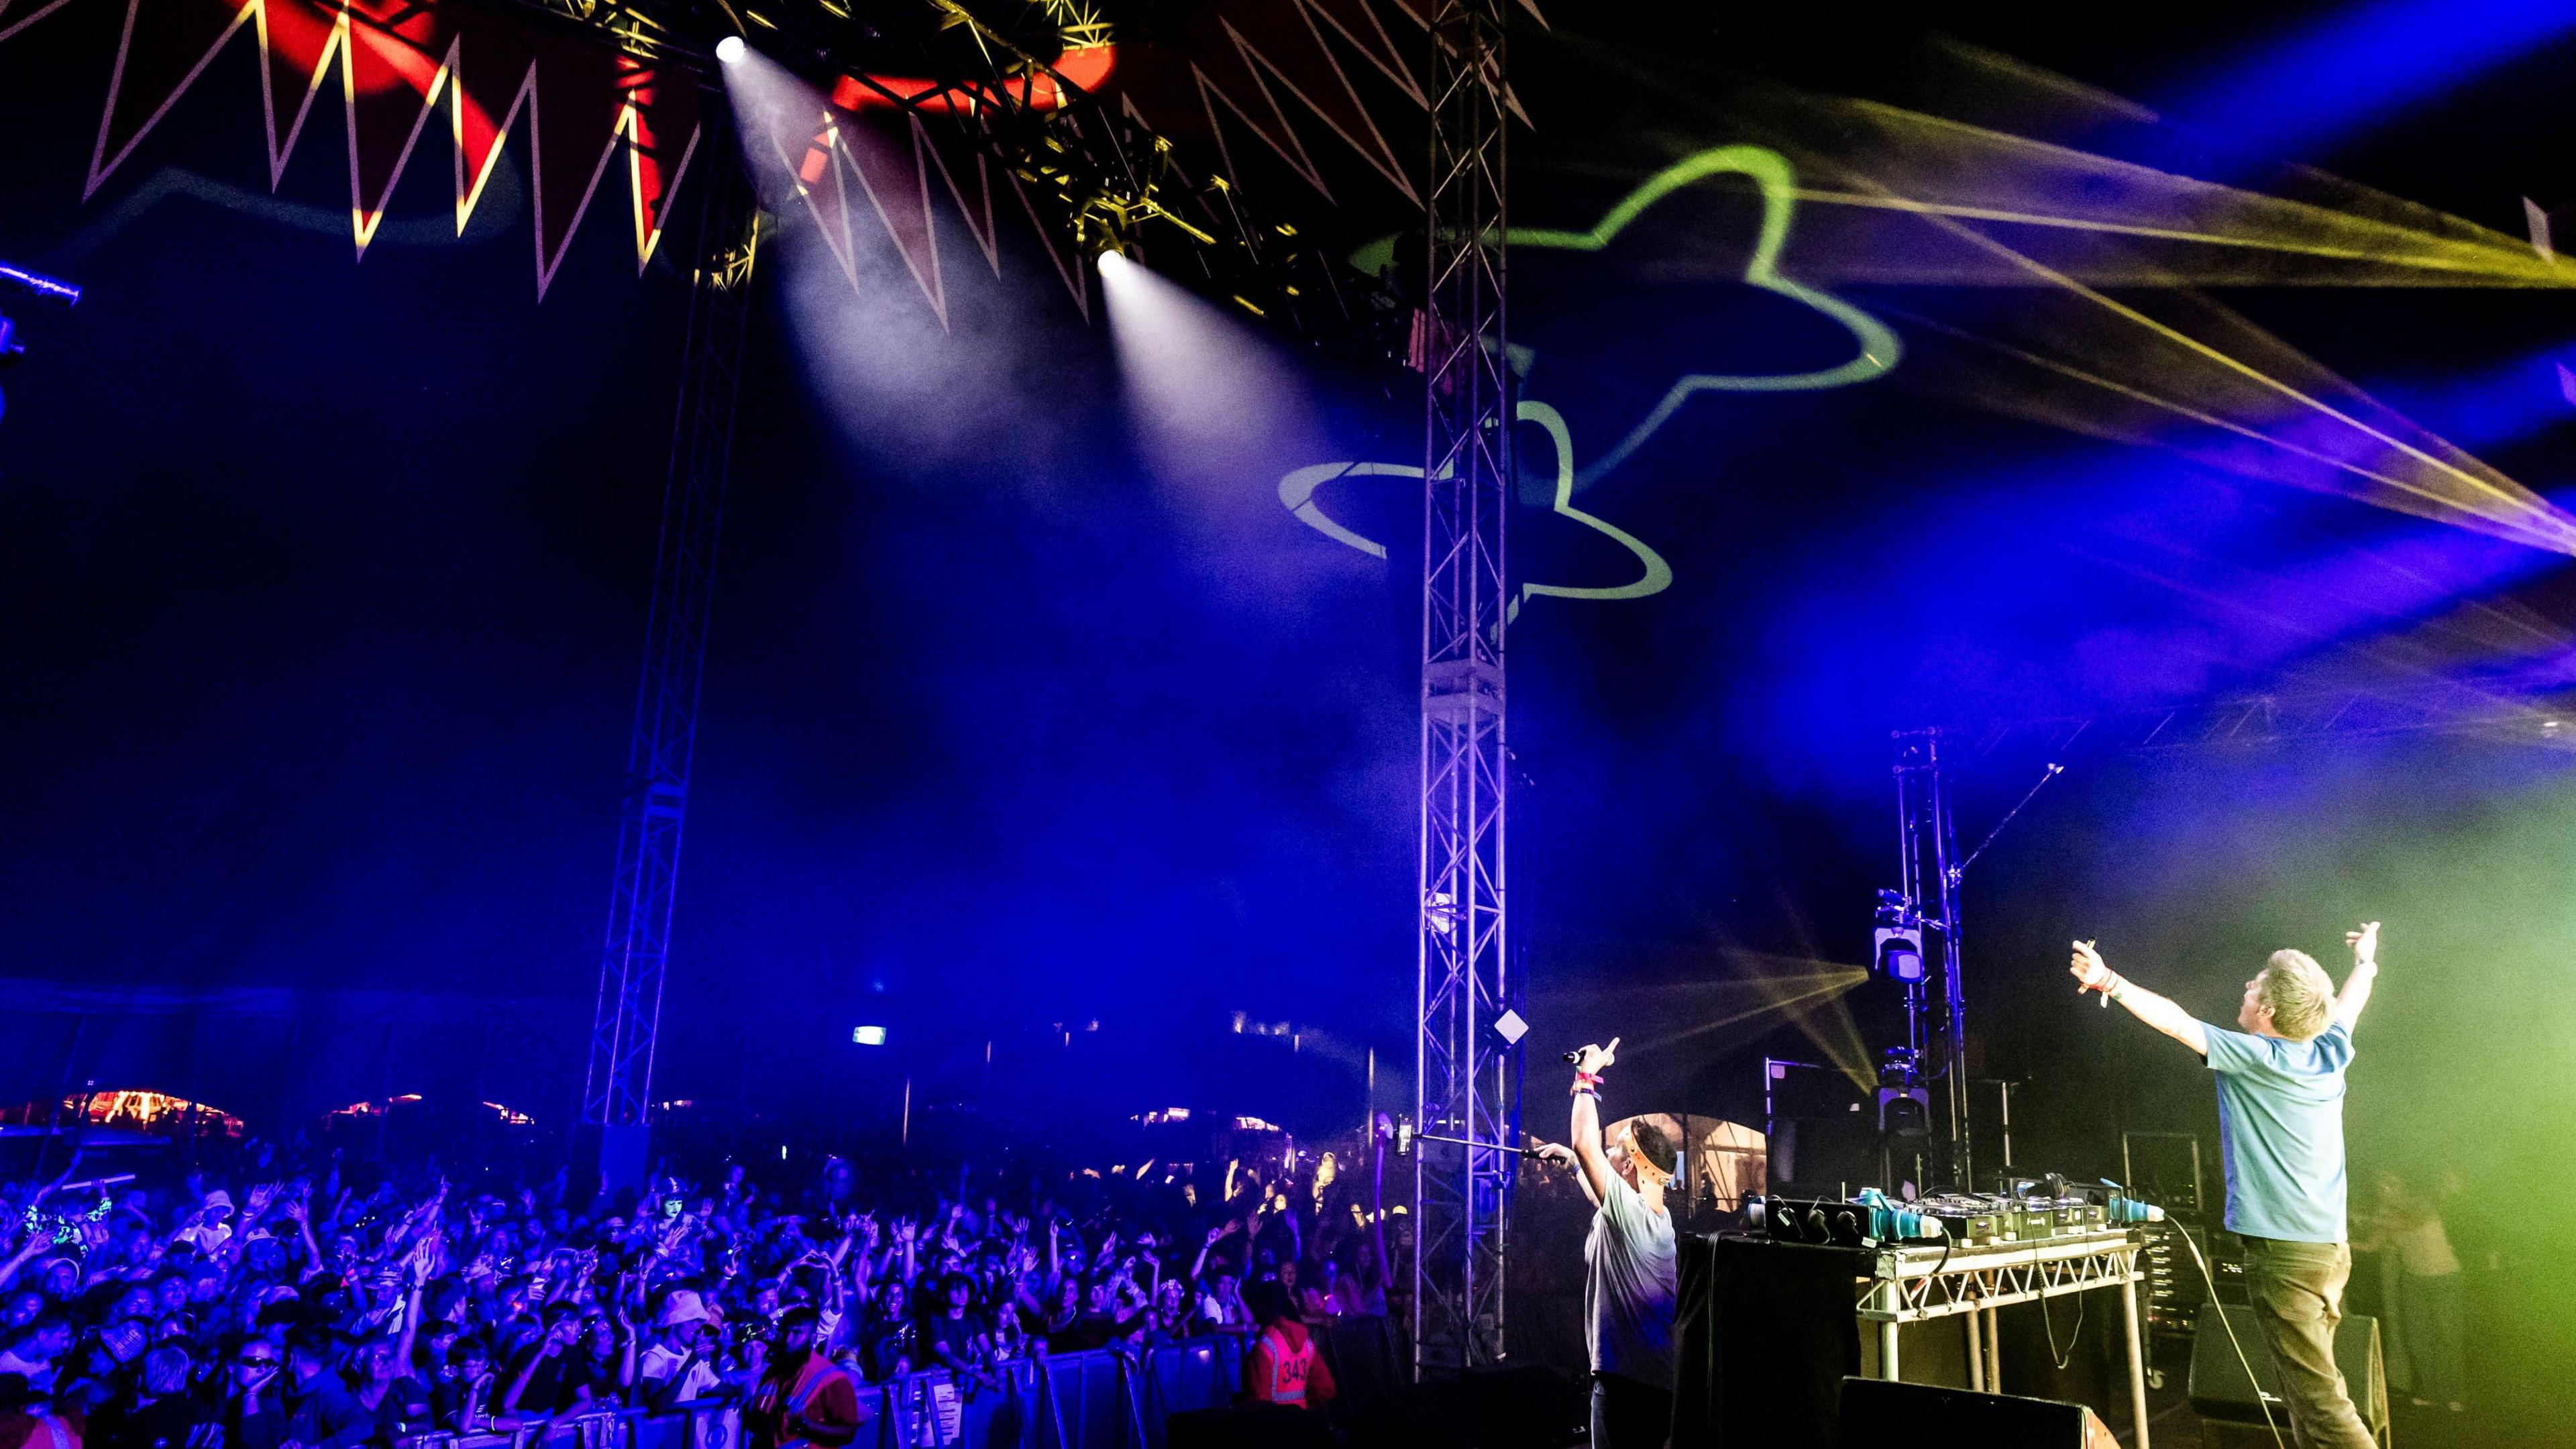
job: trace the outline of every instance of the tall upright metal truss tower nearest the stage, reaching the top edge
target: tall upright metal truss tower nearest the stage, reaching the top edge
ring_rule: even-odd
[[[1502,1359],[1517,1031],[1504,954],[1502,531],[1512,505],[1504,364],[1504,3],[1432,13],[1422,366],[1422,864],[1414,1122],[1463,1147],[1414,1155],[1414,1374]],[[1517,1021],[1515,1021],[1517,1026]]]

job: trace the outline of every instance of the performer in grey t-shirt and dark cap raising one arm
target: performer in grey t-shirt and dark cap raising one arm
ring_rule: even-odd
[[[1674,1150],[1654,1124],[1633,1122],[1602,1142],[1600,1083],[1618,1060],[1584,1047],[1574,1065],[1571,1145],[1535,1145],[1566,1168],[1582,1168],[1592,1199],[1584,1238],[1584,1343],[1592,1348],[1592,1449],[1654,1449],[1672,1436],[1672,1212],[1664,1183]]]

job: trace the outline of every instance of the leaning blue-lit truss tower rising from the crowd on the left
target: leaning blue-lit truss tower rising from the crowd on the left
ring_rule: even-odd
[[[662,972],[670,964],[670,908],[680,884],[680,825],[688,766],[698,743],[698,678],[706,670],[706,619],[716,588],[716,536],[724,529],[724,474],[734,451],[734,392],[742,333],[760,250],[760,206],[721,126],[708,129],[714,162],[698,222],[688,294],[688,351],[662,485],[662,544],[654,557],[652,614],[644,624],[644,676],[626,753],[626,810],[618,874],[608,892],[608,949],[590,1026],[582,1122],[631,1142],[629,1176],[641,1171],[641,1129],[652,1119],[652,1062],[662,1026]],[[613,1150],[603,1140],[603,1168]]]

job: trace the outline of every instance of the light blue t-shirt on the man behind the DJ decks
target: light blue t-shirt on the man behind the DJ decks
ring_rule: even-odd
[[[2344,1067],[2352,1029],[2308,1042],[2246,1036],[2202,1021],[2218,1073],[2218,1147],[2228,1232],[2344,1240]]]

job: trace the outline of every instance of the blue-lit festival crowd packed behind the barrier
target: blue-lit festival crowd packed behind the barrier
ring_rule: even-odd
[[[0,1186],[0,1449],[350,1449],[703,1400],[752,1444],[829,1446],[863,1385],[945,1369],[971,1397],[1015,1359],[1198,1333],[1247,1338],[1255,1397],[1314,1403],[1303,1325],[1383,1315],[1391,1287],[1383,1158],[938,1181],[827,1158],[641,1191],[219,1158]]]

